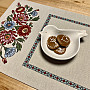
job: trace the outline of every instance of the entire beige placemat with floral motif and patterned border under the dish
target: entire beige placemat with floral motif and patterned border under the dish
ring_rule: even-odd
[[[39,90],[90,88],[90,17],[16,0],[0,18],[0,71]],[[79,53],[72,59],[51,59],[40,46],[47,25],[86,30]],[[46,77],[45,77],[46,76]]]

